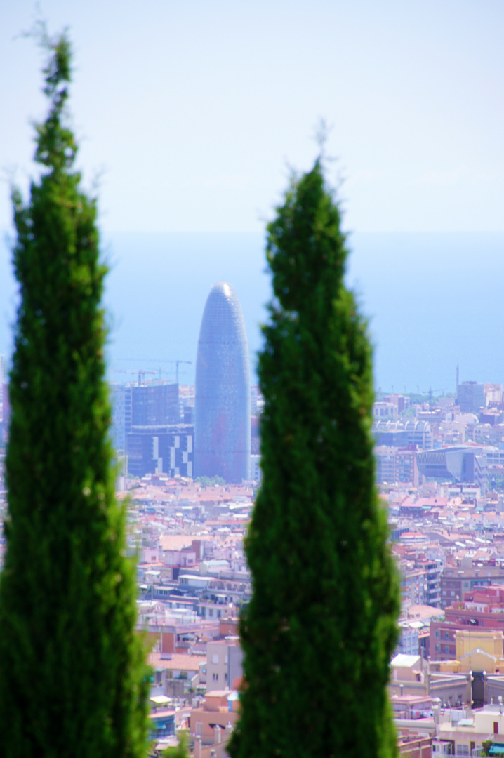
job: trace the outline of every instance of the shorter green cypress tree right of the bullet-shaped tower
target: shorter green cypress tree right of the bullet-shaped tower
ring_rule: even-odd
[[[321,160],[268,225],[274,299],[259,381],[263,479],[246,540],[233,758],[390,758],[399,593],[374,487],[371,349],[343,277]]]

